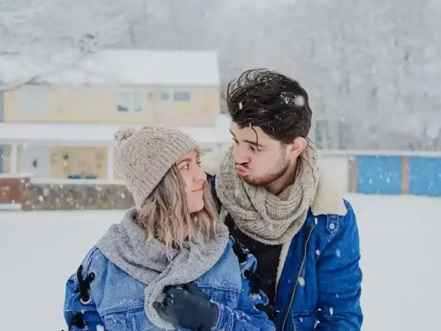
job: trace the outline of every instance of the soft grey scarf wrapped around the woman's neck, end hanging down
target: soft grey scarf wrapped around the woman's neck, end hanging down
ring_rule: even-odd
[[[136,210],[129,210],[123,221],[114,224],[96,244],[101,252],[121,270],[146,285],[144,310],[158,328],[174,330],[153,308],[164,299],[167,285],[189,283],[201,277],[220,259],[229,234],[223,223],[216,229],[216,238],[203,245],[190,244],[181,250],[166,250],[163,243],[147,241],[145,231],[135,222]]]

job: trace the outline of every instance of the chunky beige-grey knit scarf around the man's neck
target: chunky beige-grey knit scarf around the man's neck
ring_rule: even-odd
[[[308,139],[300,154],[302,165],[293,185],[278,196],[264,186],[249,185],[236,171],[232,149],[220,164],[216,193],[237,227],[261,243],[290,241],[305,223],[318,187],[318,154]]]

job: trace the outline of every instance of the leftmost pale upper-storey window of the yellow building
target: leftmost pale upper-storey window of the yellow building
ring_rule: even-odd
[[[47,112],[49,108],[46,86],[24,85],[19,90],[22,112]]]

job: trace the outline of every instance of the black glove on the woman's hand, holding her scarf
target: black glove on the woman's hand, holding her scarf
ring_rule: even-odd
[[[218,321],[218,307],[198,288],[196,283],[165,288],[163,303],[154,302],[159,316],[177,328],[206,331]]]

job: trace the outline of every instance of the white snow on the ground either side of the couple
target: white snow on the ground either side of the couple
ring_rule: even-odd
[[[435,330],[441,199],[348,195],[358,215],[368,331]],[[123,211],[0,212],[0,330],[65,328],[66,279]]]

